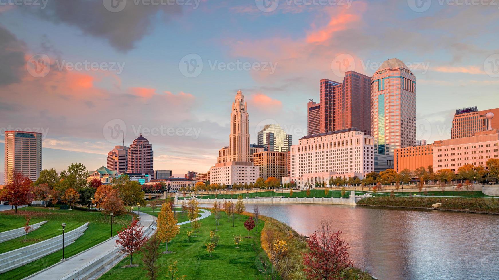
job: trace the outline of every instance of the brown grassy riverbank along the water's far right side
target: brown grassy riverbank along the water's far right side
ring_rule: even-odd
[[[433,207],[435,203],[442,203],[442,206]],[[363,198],[357,205],[499,214],[499,199],[496,198],[377,196]]]

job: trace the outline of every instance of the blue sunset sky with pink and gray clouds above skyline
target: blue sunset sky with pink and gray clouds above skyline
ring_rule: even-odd
[[[456,109],[499,107],[498,19],[469,0],[1,0],[0,133],[42,132],[59,172],[142,133],[154,169],[183,177],[228,145],[238,90],[251,143],[279,123],[296,144],[320,79],[396,57],[416,76],[418,139],[449,139]]]

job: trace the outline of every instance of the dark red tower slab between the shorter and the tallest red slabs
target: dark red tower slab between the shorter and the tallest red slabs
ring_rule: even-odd
[[[328,79],[322,79],[319,82],[320,92],[320,122],[319,132],[328,132],[334,130],[334,102],[336,95],[336,86],[340,83]]]

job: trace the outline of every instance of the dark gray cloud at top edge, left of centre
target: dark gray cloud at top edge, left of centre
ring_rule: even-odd
[[[44,9],[24,10],[54,23],[75,26],[86,35],[108,41],[119,51],[133,49],[151,31],[152,20],[158,13],[169,20],[182,12],[179,5],[135,5],[131,0],[119,12],[108,11],[101,0],[51,0]]]

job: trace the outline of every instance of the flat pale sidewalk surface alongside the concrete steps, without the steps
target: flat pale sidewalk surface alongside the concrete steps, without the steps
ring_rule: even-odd
[[[154,221],[154,217],[141,213],[139,224],[144,226],[144,231],[146,231],[149,226],[152,225]],[[118,236],[114,236],[100,244],[97,244],[79,254],[76,254],[70,258],[67,258],[64,261],[58,262],[51,267],[48,267],[34,275],[31,275],[25,279],[32,280],[61,280],[70,279],[72,275],[76,272],[83,270],[83,268],[87,267],[89,264],[98,261],[103,256],[109,254],[111,251],[117,249],[115,240],[118,239]],[[116,254],[118,255],[118,254]]]

